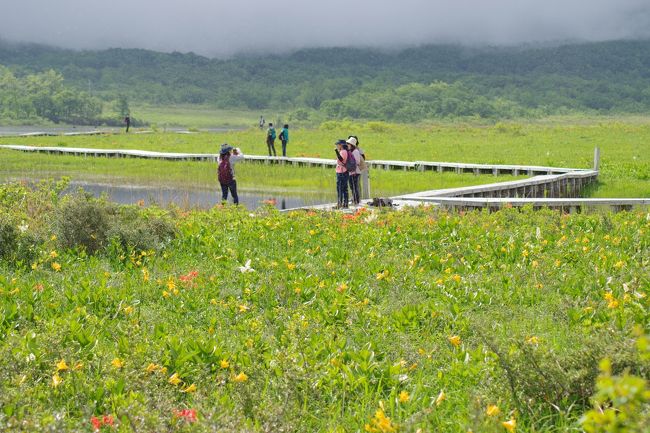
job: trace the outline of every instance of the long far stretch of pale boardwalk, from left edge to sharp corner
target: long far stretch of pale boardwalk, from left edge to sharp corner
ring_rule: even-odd
[[[99,131],[101,133],[101,131]],[[88,133],[72,133],[88,134]],[[170,161],[211,161],[217,160],[218,154],[212,153],[173,153],[173,152],[153,152],[137,149],[92,149],[76,147],[57,147],[57,146],[24,146],[15,144],[0,145],[3,149],[19,150],[23,152],[40,152],[52,155],[74,155],[86,157],[107,157],[107,158],[151,158],[164,159]],[[245,161],[257,162],[260,164],[279,164],[293,165],[299,167],[320,167],[332,168],[336,166],[334,159],[324,158],[307,158],[266,155],[246,155]],[[511,174],[513,176],[535,176],[535,175],[552,175],[560,173],[569,173],[581,171],[581,169],[562,168],[562,167],[545,167],[537,165],[500,165],[500,164],[471,164],[457,162],[430,162],[430,161],[389,161],[389,160],[368,160],[367,164],[372,169],[380,170],[411,170],[427,171],[435,170],[438,172],[454,173],[472,173],[475,175],[500,175]]]

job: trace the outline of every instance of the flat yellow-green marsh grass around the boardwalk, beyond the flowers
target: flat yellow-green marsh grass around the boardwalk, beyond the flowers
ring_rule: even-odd
[[[535,164],[561,167],[588,168],[593,165],[595,146],[601,148],[601,175],[598,188],[590,190],[594,197],[648,197],[650,196],[650,121],[643,118],[629,120],[591,119],[576,120],[566,124],[560,119],[546,123],[497,124],[493,126],[472,124],[395,125],[382,122],[363,124],[328,122],[317,129],[291,131],[289,156],[333,158],[332,143],[349,134],[358,135],[361,147],[369,159],[397,159],[424,161],[455,161],[499,164]],[[179,135],[158,133],[150,135],[115,134],[100,137],[33,137],[0,138],[0,143],[50,145],[68,147],[130,148],[170,152],[215,153],[223,142],[239,146],[245,153],[266,154],[264,132],[251,128],[244,131],[199,133]],[[278,149],[280,145],[276,146]],[[9,157],[3,153],[0,176],[16,176],[20,171],[37,172],[43,160],[28,155]],[[60,157],[57,157],[60,158]],[[49,164],[49,163],[48,163]],[[106,166],[104,166],[106,164]],[[111,163],[89,160],[64,161],[53,165],[69,165],[72,173],[92,175],[93,170],[112,172],[119,178],[153,178],[158,171],[155,163]],[[90,169],[90,167],[96,167]],[[154,167],[153,169],[150,169]],[[261,170],[261,171],[260,171]],[[241,167],[240,184],[244,188],[265,189],[278,186],[305,190],[329,188],[328,174],[320,170],[266,169]],[[65,170],[48,170],[64,174]],[[210,182],[210,171],[197,168],[187,174],[185,168],[174,168],[171,178],[197,178]],[[141,172],[145,172],[142,175]],[[201,172],[205,174],[200,174]],[[168,179],[164,172],[162,181]],[[256,174],[263,176],[257,176]],[[18,174],[19,175],[19,174]],[[405,192],[460,184],[485,183],[495,180],[484,177],[458,179],[452,177],[423,177],[422,174],[382,173],[375,170],[377,191],[382,193]],[[203,180],[201,182],[204,182]],[[400,186],[401,184],[401,186]]]

